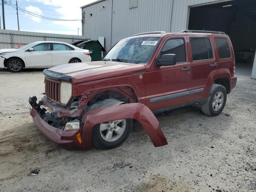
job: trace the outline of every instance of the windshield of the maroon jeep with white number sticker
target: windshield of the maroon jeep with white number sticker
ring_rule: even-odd
[[[104,60],[129,63],[147,63],[160,38],[130,38],[118,42]]]

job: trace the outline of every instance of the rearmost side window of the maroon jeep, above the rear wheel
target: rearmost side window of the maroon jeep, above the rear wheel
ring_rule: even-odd
[[[214,39],[217,45],[220,59],[230,58],[231,53],[230,53],[230,48],[228,46],[228,40],[226,38],[214,38]]]

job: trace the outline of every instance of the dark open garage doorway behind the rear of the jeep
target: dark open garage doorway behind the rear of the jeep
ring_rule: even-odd
[[[225,32],[234,48],[236,74],[251,75],[256,48],[256,0],[191,7],[188,29]]]

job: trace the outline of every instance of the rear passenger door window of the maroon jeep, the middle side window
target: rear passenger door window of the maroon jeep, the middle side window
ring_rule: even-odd
[[[212,59],[212,45],[209,38],[189,38],[193,61]]]

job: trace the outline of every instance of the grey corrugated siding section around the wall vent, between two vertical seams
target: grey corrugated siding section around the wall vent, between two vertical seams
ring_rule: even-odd
[[[138,7],[129,9],[128,0],[113,0],[112,45],[141,32],[168,32],[171,4],[171,0],[138,0]]]

